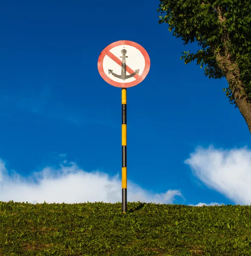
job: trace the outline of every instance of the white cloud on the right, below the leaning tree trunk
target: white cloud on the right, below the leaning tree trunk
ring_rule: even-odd
[[[197,147],[185,160],[195,177],[235,204],[251,204],[251,150]],[[203,204],[203,203],[201,203]]]

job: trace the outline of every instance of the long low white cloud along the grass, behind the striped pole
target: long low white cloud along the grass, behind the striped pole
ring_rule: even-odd
[[[66,160],[63,163],[67,163]],[[119,175],[109,177],[102,172],[85,172],[76,163],[60,164],[59,169],[44,168],[41,172],[33,172],[29,177],[23,177],[12,171],[9,175],[5,163],[0,160],[0,201],[36,203],[84,203],[121,202],[121,179]],[[173,204],[176,196],[181,196],[179,190],[168,190],[165,193],[154,194],[146,191],[128,180],[128,202],[145,202]]]

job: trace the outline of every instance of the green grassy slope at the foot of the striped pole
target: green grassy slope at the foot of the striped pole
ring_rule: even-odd
[[[0,255],[248,256],[251,206],[0,202]]]

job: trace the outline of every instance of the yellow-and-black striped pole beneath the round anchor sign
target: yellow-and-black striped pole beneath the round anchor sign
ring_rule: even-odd
[[[126,88],[122,88],[122,212],[127,212]]]

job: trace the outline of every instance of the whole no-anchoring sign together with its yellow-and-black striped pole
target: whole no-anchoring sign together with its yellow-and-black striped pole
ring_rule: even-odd
[[[125,213],[127,212],[126,88],[135,86],[145,79],[150,69],[150,58],[140,44],[121,40],[103,49],[97,67],[100,76],[108,84],[122,88],[122,212]]]

